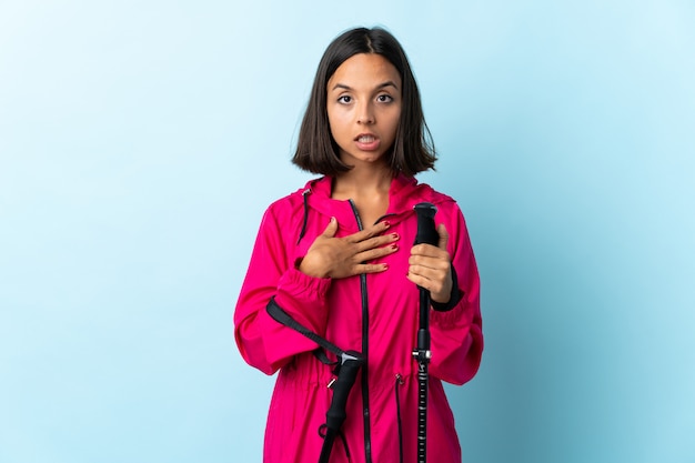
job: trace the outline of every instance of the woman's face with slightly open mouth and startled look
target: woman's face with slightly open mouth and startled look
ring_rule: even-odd
[[[326,85],[331,134],[348,165],[384,163],[401,118],[401,77],[381,54],[345,60]]]

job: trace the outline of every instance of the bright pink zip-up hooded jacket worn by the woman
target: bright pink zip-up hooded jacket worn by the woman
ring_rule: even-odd
[[[362,352],[361,370],[348,401],[343,424],[352,463],[397,462],[399,425],[405,463],[416,461],[417,364],[412,356],[419,326],[419,290],[406,278],[417,222],[413,207],[437,208],[435,223],[451,238],[449,252],[463,294],[449,312],[431,310],[432,360],[427,420],[427,461],[460,463],[461,446],[442,381],[463,384],[480,365],[483,351],[480,281],[463,214],[453,199],[415,179],[391,184],[389,232],[401,235],[401,250],[380,260],[383,273],[348,279],[316,279],[295,262],[329,224],[338,236],[355,233],[359,219],[350,201],[331,199],[331,179],[274,202],[266,210],[234,313],[235,340],[244,360],[266,374],[280,373],[265,430],[265,463],[314,463],[323,444],[319,427],[331,402],[331,368],[311,353],[316,344],[268,314],[271,296],[293,319],[341,349]],[[400,404],[400,406],[399,406]],[[348,462],[335,441],[331,462]]]

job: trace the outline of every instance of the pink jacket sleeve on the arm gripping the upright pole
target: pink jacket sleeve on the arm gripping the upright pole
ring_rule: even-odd
[[[462,296],[451,311],[430,311],[430,373],[461,385],[475,375],[483,353],[480,278],[465,220],[457,205],[452,209],[446,229],[450,233],[449,252],[457,279],[455,283]]]

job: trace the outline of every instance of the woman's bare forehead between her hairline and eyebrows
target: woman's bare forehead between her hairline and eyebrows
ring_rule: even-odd
[[[329,79],[329,91],[340,83],[351,88],[373,88],[393,82],[401,89],[401,76],[395,67],[376,53],[357,53],[348,58]]]

